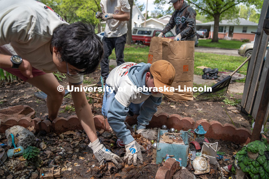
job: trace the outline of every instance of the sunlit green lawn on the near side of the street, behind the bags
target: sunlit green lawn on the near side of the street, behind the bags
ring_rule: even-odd
[[[199,42],[200,43],[200,42]],[[145,62],[148,61],[149,47],[143,45],[126,45],[124,49],[124,60],[125,62]],[[111,59],[116,59],[115,51],[113,50],[110,55]],[[246,58],[228,55],[217,55],[212,53],[194,53],[194,74],[202,75],[203,69],[196,68],[199,66],[205,66],[209,68],[218,68],[218,71],[229,71],[236,70]],[[247,63],[239,70],[239,73],[246,75]],[[245,79],[240,80],[244,82]]]

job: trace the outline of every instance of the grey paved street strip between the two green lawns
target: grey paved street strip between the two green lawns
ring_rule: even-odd
[[[231,56],[240,56],[238,55],[237,50],[228,50],[228,49],[215,49],[215,48],[207,48],[207,47],[195,47],[195,52],[203,52],[203,53],[215,53],[220,55],[231,55]]]

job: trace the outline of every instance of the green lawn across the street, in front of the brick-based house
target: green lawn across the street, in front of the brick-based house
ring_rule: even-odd
[[[235,40],[218,40],[218,43],[211,42],[212,39],[199,39],[198,47],[218,47],[227,49],[239,49],[242,44],[246,42]]]

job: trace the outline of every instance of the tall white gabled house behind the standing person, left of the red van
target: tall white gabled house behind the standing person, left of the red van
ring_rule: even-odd
[[[145,17],[143,16],[143,14],[139,10],[139,8],[135,5],[133,5],[133,8],[132,8],[132,28],[133,27],[141,27],[140,24],[144,20],[145,20]],[[101,32],[105,30],[105,26],[106,26],[106,21],[102,21],[101,22]],[[143,24],[142,24],[142,26],[143,26]]]

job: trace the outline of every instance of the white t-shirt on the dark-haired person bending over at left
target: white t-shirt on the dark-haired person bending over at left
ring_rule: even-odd
[[[50,51],[51,38],[56,27],[68,23],[39,1],[1,0],[0,4],[0,45],[10,44],[17,55],[38,70],[58,71]],[[83,75],[67,78],[71,83],[79,83]]]

